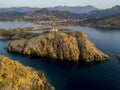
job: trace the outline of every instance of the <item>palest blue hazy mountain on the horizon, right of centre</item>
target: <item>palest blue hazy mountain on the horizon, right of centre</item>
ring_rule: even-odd
[[[71,13],[88,13],[90,11],[98,10],[97,8],[87,5],[87,6],[74,6],[74,7],[67,7],[67,6],[57,6],[53,8],[48,8],[49,10],[58,10],[58,11],[69,11]]]

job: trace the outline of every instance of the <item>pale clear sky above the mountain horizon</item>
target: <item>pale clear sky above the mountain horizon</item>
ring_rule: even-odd
[[[0,0],[0,8],[8,7],[54,7],[92,5],[105,9],[120,5],[120,0]]]

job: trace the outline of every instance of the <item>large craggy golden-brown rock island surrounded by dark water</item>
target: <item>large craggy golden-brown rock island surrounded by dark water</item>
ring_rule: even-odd
[[[73,61],[101,61],[109,56],[89,41],[83,32],[46,32],[29,40],[15,40],[9,52]]]

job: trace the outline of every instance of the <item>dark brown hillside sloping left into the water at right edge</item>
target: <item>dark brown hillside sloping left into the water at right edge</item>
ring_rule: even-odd
[[[120,29],[120,14],[85,20],[84,25],[104,29]]]

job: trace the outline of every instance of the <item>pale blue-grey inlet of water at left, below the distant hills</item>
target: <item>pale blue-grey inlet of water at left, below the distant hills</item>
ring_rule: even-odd
[[[31,27],[33,25],[34,25],[34,23],[32,23],[32,22],[0,21],[0,28],[3,28],[3,29]]]

